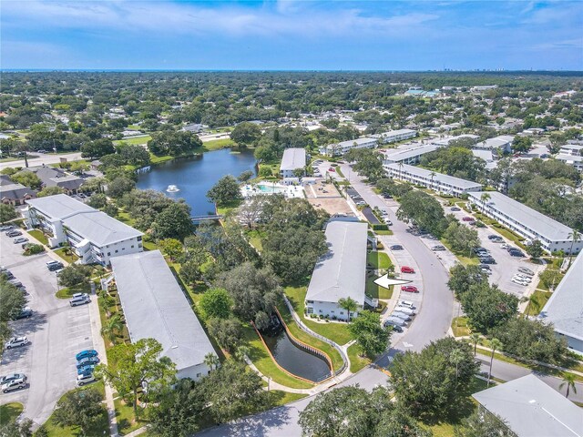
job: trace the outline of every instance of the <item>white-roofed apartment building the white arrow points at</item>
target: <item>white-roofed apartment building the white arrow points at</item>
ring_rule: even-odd
[[[308,314],[347,320],[348,312],[338,305],[338,300],[352,298],[358,309],[357,316],[367,300],[366,243],[368,225],[358,221],[334,220],[326,226],[328,252],[318,260],[308,285],[305,308]]]

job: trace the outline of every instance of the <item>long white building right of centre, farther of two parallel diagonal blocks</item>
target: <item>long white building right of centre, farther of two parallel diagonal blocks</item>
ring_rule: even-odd
[[[390,178],[411,182],[412,184],[421,185],[452,196],[460,196],[462,193],[480,191],[482,189],[482,184],[471,180],[455,178],[406,164],[386,164],[384,169]]]

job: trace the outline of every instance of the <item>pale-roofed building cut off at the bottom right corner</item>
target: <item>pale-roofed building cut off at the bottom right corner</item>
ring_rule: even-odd
[[[474,393],[478,412],[496,415],[517,437],[580,437],[583,410],[529,374]]]

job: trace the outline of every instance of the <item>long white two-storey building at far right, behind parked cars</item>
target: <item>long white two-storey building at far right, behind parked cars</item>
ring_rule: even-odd
[[[578,253],[583,248],[583,241],[574,242],[569,236],[573,229],[513,198],[497,191],[470,192],[468,195],[470,202],[486,216],[516,232],[527,242],[539,240],[549,253],[557,250],[571,253],[571,247],[572,253]],[[483,199],[483,195],[487,196]]]

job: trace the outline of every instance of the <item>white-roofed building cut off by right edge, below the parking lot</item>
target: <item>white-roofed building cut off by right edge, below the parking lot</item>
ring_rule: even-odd
[[[557,336],[567,340],[571,350],[583,355],[583,251],[538,317],[552,323]]]

